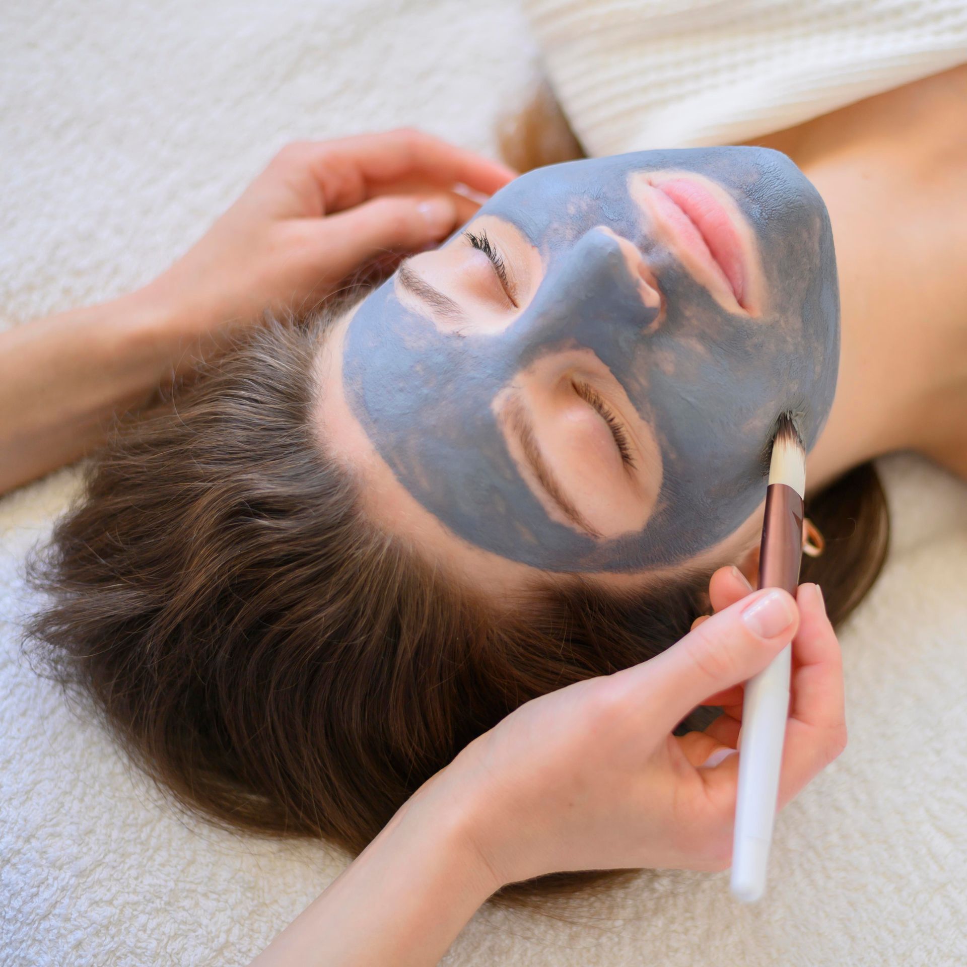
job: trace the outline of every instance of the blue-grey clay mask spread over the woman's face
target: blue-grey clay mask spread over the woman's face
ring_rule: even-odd
[[[666,568],[733,534],[764,497],[777,416],[792,412],[810,449],[833,403],[818,192],[767,149],[649,151],[530,172],[471,231],[483,217],[540,260],[505,325],[449,325],[446,300],[421,305],[403,270],[345,335],[347,401],[398,482],[457,537],[549,571]],[[646,519],[609,536],[549,510],[509,443],[513,388],[575,354],[616,381],[652,443],[635,471],[655,488]]]

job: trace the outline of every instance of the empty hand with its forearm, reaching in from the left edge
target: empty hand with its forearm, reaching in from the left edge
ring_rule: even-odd
[[[266,310],[307,313],[445,239],[513,171],[420,132],[290,144],[159,278],[0,334],[0,493],[90,453]]]

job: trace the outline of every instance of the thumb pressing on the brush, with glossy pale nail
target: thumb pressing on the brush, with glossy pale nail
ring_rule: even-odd
[[[657,658],[628,670],[640,670],[650,715],[659,728],[671,731],[709,695],[762,671],[798,627],[792,596],[766,588],[703,621]]]

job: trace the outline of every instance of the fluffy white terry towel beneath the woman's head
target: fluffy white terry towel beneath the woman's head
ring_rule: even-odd
[[[410,124],[491,150],[534,72],[509,0],[7,0],[2,322],[151,278],[292,138]],[[594,923],[484,909],[445,964],[967,962],[967,488],[885,470],[894,552],[842,635],[850,746],[780,816],[768,898],[645,874]],[[179,817],[17,659],[22,556],[74,488],[0,501],[0,964],[246,963],[346,858]]]

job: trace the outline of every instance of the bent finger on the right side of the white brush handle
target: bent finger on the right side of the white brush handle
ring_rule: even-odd
[[[779,805],[792,799],[846,745],[842,656],[818,587],[797,594],[801,625],[793,639],[793,673],[779,778]]]

